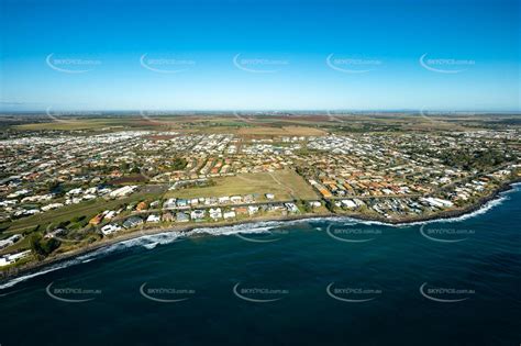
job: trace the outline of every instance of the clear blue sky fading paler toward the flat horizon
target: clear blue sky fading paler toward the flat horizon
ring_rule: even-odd
[[[520,111],[519,0],[0,0],[0,111]]]

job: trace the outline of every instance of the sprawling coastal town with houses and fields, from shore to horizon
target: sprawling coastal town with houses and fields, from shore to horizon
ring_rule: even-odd
[[[0,269],[143,232],[459,215],[521,178],[510,118],[5,115]],[[507,127],[505,124],[509,124]]]

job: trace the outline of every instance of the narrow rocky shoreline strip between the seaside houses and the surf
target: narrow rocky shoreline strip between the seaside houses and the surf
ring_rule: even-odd
[[[21,277],[24,275],[37,274],[40,269],[49,268],[52,265],[57,265],[59,263],[74,259],[81,255],[87,255],[89,253],[93,253],[98,249],[109,247],[111,245],[140,238],[143,236],[162,234],[162,233],[171,233],[171,232],[190,232],[198,228],[219,228],[219,227],[228,227],[228,226],[236,226],[236,225],[246,225],[246,224],[255,224],[259,222],[287,222],[287,221],[299,221],[299,220],[313,220],[313,219],[333,219],[333,217],[351,217],[358,221],[366,221],[366,222],[378,222],[384,225],[389,226],[400,226],[400,225],[413,225],[417,223],[429,222],[429,221],[443,221],[455,219],[459,216],[464,216],[476,212],[483,209],[488,202],[497,200],[502,192],[510,191],[513,189],[513,186],[517,183],[521,183],[521,179],[517,179],[513,181],[505,182],[498,189],[496,189],[489,196],[486,196],[479,199],[476,203],[468,205],[467,208],[459,209],[459,210],[452,210],[446,212],[441,212],[433,215],[426,215],[422,217],[404,217],[403,220],[389,220],[383,216],[367,216],[363,214],[353,214],[353,213],[306,213],[306,214],[298,214],[298,215],[280,215],[280,216],[258,216],[255,219],[248,220],[237,220],[237,221],[230,221],[230,222],[214,222],[214,223],[202,223],[202,224],[190,224],[190,225],[174,225],[168,227],[156,227],[149,230],[136,230],[126,234],[121,234],[119,236],[112,238],[103,238],[100,242],[97,242],[92,245],[88,245],[68,253],[58,254],[51,258],[46,258],[42,261],[36,263],[29,263],[18,268],[10,268],[10,270],[1,271],[0,272],[0,284],[5,283],[11,279],[15,279],[16,277]]]

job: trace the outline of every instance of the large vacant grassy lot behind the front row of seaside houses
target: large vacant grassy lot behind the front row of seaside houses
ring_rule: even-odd
[[[266,201],[265,193],[274,193],[276,200],[317,198],[311,186],[290,169],[274,172],[242,174],[213,180],[215,186],[168,191],[166,197],[199,198],[257,193],[259,194],[257,201]]]

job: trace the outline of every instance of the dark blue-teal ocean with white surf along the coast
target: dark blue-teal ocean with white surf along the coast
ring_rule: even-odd
[[[519,345],[520,225],[518,185],[443,222],[146,236],[3,283],[0,344]]]

